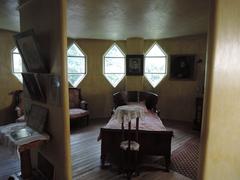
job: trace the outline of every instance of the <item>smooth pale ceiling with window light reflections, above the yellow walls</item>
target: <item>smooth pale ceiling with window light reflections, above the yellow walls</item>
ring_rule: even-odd
[[[123,40],[206,33],[208,4],[209,0],[68,0],[68,36]],[[0,0],[1,29],[19,31],[17,6],[17,0]]]

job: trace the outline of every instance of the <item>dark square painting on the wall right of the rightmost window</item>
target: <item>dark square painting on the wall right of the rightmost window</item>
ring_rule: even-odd
[[[170,78],[173,80],[194,79],[195,55],[171,55]]]

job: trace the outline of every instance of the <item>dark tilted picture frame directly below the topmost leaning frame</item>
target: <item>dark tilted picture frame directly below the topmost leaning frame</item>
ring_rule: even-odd
[[[22,77],[31,99],[46,102],[46,96],[41,88],[37,74],[22,73]]]

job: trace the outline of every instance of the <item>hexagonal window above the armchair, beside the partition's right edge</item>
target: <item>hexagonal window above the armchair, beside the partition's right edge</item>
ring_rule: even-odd
[[[67,51],[68,82],[77,87],[86,76],[86,55],[73,43]]]

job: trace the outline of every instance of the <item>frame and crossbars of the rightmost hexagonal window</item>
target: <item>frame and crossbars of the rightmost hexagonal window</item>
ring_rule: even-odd
[[[162,53],[165,55],[165,56],[147,56],[147,54],[152,50],[152,48],[155,46],[155,45],[157,45],[158,46],[158,48],[162,51]],[[146,69],[146,59],[147,58],[165,58],[165,71],[164,71],[164,73],[146,73],[146,71],[145,71],[145,69]],[[166,75],[167,75],[167,73],[168,73],[168,55],[167,55],[167,53],[162,49],[162,47],[157,43],[157,42],[154,42],[151,46],[150,46],[150,48],[146,51],[146,53],[144,54],[144,77],[147,79],[147,81],[151,84],[151,86],[153,87],[153,88],[156,88],[159,84],[160,84],[160,82],[162,81],[162,79],[164,78],[164,77],[166,77]],[[149,79],[146,77],[146,74],[162,74],[163,75],[163,78],[158,82],[158,84],[156,84],[156,86],[153,86],[152,85],[152,83],[149,81]]]

